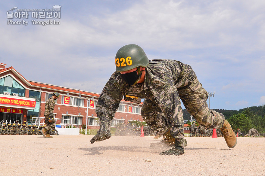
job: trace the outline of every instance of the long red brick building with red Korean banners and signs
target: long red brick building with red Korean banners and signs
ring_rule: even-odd
[[[88,120],[88,129],[99,128],[95,106],[100,94],[30,81],[13,67],[5,66],[0,63],[0,123],[18,120],[19,123],[27,121],[42,125],[43,119],[38,117],[44,117],[45,102],[52,93],[58,92],[60,97],[55,101],[54,110],[57,125],[70,124],[81,128]],[[111,126],[130,120],[143,121],[141,108],[142,103],[139,105],[123,99]]]

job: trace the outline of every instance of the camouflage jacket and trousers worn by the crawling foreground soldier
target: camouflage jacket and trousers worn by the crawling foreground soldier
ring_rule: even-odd
[[[170,130],[176,146],[184,147],[180,99],[199,124],[219,129],[224,123],[223,114],[209,110],[206,102],[208,94],[195,72],[179,61],[150,60],[145,68],[144,82],[132,86],[126,83],[120,72],[114,72],[103,88],[95,110],[102,130],[109,130],[123,96],[125,100],[139,104],[141,99],[145,99],[141,111],[143,119],[158,135]]]

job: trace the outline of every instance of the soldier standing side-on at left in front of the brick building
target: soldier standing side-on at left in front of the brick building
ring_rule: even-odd
[[[55,126],[55,121],[54,121],[54,116],[53,116],[53,111],[54,111],[54,106],[55,106],[55,100],[59,98],[59,93],[55,92],[52,94],[52,97],[49,98],[46,103],[45,103],[45,111],[44,111],[44,116],[45,116],[45,123],[47,126],[41,130],[41,133],[43,137],[45,138],[53,138],[48,134],[50,129]]]

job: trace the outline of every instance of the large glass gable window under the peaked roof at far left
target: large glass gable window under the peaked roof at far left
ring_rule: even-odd
[[[25,89],[11,76],[0,79],[0,94],[18,95],[25,97]]]

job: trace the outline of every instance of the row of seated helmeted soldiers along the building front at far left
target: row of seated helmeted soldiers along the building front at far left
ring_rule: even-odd
[[[26,126],[25,123],[23,123],[22,126],[20,123],[18,125],[15,123],[12,125],[8,123],[6,126],[6,123],[3,123],[0,128],[0,135],[42,135],[41,130],[45,127],[46,125],[40,125],[39,128],[36,125]],[[50,130],[50,135],[59,135],[58,131],[55,129],[55,126]]]

